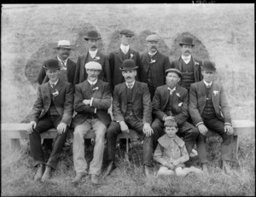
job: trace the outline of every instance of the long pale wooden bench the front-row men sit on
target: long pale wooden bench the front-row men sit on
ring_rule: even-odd
[[[251,120],[233,120],[232,121],[234,133],[233,151],[237,157],[239,136],[242,135],[255,135],[255,123]],[[20,149],[20,139],[27,139],[28,133],[26,131],[28,124],[1,124],[1,135],[2,138],[10,140],[12,151]],[[54,139],[56,136],[55,129],[50,129],[41,134],[44,139]],[[209,130],[207,136],[218,136],[216,132]],[[92,130],[84,136],[84,138],[91,139],[95,138],[95,134]],[[130,130],[130,133],[120,133],[117,140],[126,139],[126,153],[128,153],[128,139],[137,140],[141,138],[136,131]]]

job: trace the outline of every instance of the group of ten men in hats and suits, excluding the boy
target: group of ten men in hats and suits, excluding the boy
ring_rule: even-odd
[[[183,137],[189,154],[196,144],[204,171],[207,130],[218,132],[223,138],[222,164],[230,171],[233,129],[224,90],[213,81],[215,64],[192,57],[192,38],[181,40],[182,55],[171,63],[158,50],[158,35],[146,38],[148,52],[143,55],[130,48],[133,36],[131,30],[121,30],[119,49],[103,55],[98,50],[100,33],[90,30],[84,37],[89,50],[77,63],[68,58],[73,48],[67,40],[58,42],[57,57],[44,61],[28,128],[34,166],[38,167],[35,181],[44,182],[52,176],[70,127],[74,128],[76,171],[72,183],[79,183],[88,174],[92,183],[99,182],[105,136],[108,167],[104,176],[108,176],[116,168],[116,138],[129,130],[144,136],[143,172],[148,176],[157,140],[165,134],[163,127],[168,119],[177,121],[177,135]],[[111,105],[113,117],[108,113]],[[57,130],[57,136],[45,162],[40,133],[50,128]],[[89,130],[96,134],[90,166],[84,158],[84,135]]]

